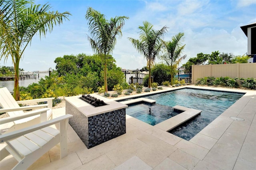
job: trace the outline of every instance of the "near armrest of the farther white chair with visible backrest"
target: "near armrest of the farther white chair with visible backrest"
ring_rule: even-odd
[[[25,113],[24,115],[19,115],[19,116],[12,116],[12,117],[6,117],[6,118],[1,118],[0,119],[0,125],[5,124],[5,123],[9,123],[9,122],[13,122],[13,121],[17,121],[19,119],[24,119],[27,117],[31,117],[34,115],[39,115],[42,113],[46,113],[46,111],[50,110],[49,108],[43,108],[43,109],[38,109],[35,111],[30,111]]]

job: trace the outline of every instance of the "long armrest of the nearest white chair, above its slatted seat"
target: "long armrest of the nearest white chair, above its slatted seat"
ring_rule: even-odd
[[[39,123],[37,125],[32,125],[30,127],[26,127],[26,128],[22,128],[20,130],[16,130],[14,132],[2,134],[2,135],[0,135],[0,143],[6,142],[6,141],[14,139],[14,138],[17,138],[17,137],[22,136],[24,134],[28,134],[30,132],[34,132],[34,131],[39,130],[41,128],[48,127],[50,125],[60,123],[60,122],[65,121],[66,119],[69,119],[71,117],[73,117],[73,115],[69,115],[69,114],[68,115],[63,115],[63,116],[57,117],[55,119],[52,119],[50,121],[45,121],[45,122]]]

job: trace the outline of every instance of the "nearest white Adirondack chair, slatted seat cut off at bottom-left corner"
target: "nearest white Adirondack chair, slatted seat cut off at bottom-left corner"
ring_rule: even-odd
[[[44,108],[44,110],[46,109]],[[2,118],[0,119],[0,125],[37,114],[32,111],[32,113],[26,115]],[[0,143],[5,142],[6,146],[0,150],[0,161],[12,154],[18,161],[13,170],[25,170],[58,143],[60,143],[60,158],[67,156],[66,129],[68,119],[71,117],[73,116],[64,115],[37,125],[1,134]],[[59,130],[50,127],[54,124],[58,124]]]

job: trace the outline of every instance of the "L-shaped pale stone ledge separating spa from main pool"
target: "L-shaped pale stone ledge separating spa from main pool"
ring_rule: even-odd
[[[197,109],[191,109],[191,108],[178,106],[178,105],[174,106],[173,108],[174,108],[174,111],[176,109],[176,110],[184,111],[184,112],[182,112],[174,117],[171,117],[170,119],[167,119],[166,121],[158,123],[154,127],[158,127],[167,132],[169,130],[172,130],[173,128],[178,127],[182,123],[189,121],[190,119],[199,115],[202,112]]]

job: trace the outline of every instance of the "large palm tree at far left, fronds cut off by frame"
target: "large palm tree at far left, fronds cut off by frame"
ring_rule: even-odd
[[[33,0],[0,1],[0,59],[12,57],[14,63],[14,98],[20,100],[19,63],[24,50],[39,32],[40,37],[68,19],[69,12],[50,12],[48,4],[36,5]]]

